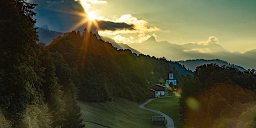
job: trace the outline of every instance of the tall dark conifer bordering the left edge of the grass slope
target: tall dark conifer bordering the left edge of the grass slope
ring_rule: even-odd
[[[80,107],[76,101],[76,88],[72,81],[72,69],[63,61],[60,53],[52,53],[54,64],[56,67],[56,76],[58,83],[62,85],[64,111],[61,127],[84,127],[82,124]]]

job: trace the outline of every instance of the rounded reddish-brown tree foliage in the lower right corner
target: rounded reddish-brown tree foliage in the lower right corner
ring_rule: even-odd
[[[220,83],[195,96],[198,111],[186,109],[185,127],[250,127],[256,115],[255,94]]]

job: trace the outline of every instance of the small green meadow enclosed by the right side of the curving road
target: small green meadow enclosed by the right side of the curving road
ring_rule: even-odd
[[[178,96],[157,98],[147,103],[145,107],[160,110],[169,115],[174,122],[175,128],[181,128],[183,124],[180,121],[178,100]]]

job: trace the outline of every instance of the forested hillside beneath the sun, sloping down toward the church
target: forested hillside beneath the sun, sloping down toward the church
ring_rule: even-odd
[[[47,48],[75,69],[73,80],[77,81],[78,97],[88,101],[111,101],[121,96],[141,102],[148,94],[147,81],[165,83],[170,71],[165,58],[117,50],[86,29],[82,33],[66,32]]]

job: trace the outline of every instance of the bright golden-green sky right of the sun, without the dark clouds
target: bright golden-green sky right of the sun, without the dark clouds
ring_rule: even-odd
[[[208,37],[229,51],[256,49],[256,9],[253,0],[79,0],[98,20],[134,24],[135,30],[99,30],[116,42],[157,41],[185,44]]]

